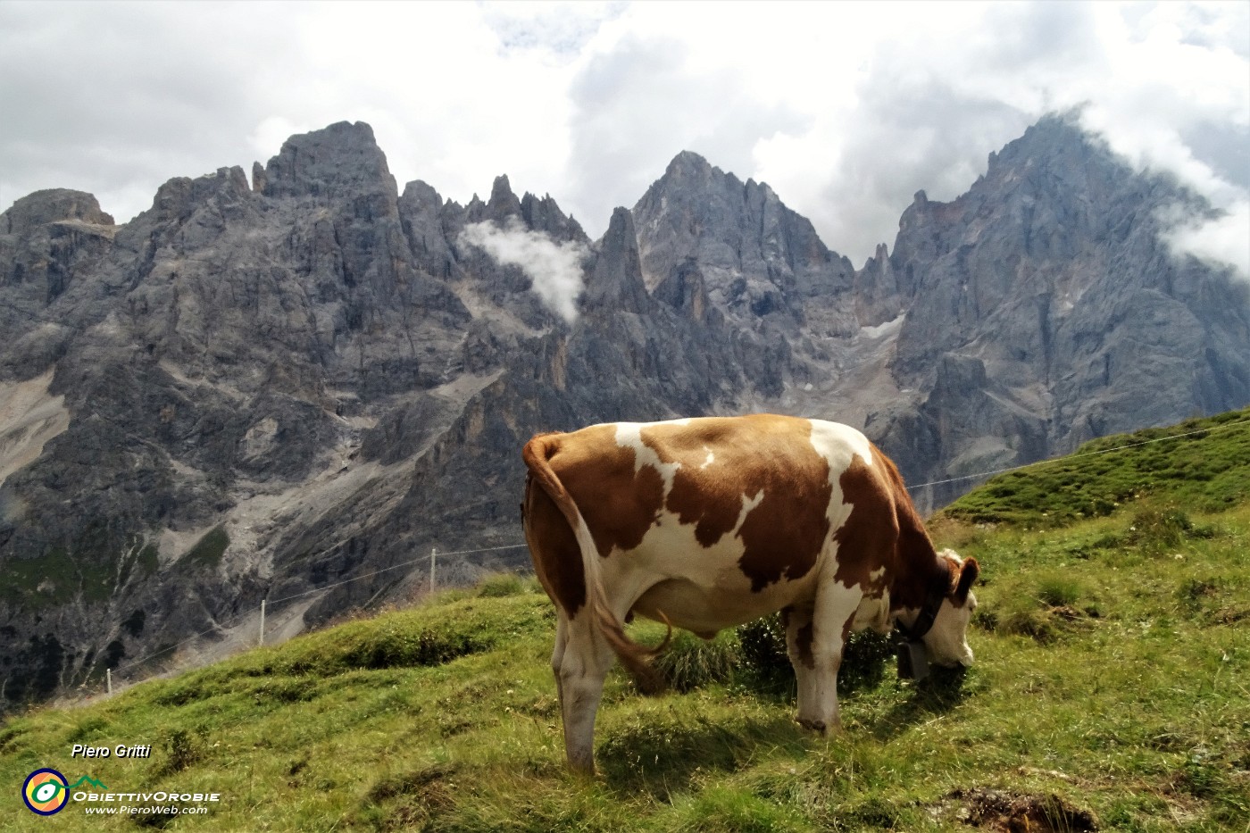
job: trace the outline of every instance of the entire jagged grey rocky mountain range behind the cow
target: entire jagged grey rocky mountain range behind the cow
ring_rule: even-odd
[[[32,194],[0,214],[0,709],[226,650],[264,598],[291,633],[406,598],[431,547],[519,543],[539,430],[822,416],[924,484],[1242,405],[1245,284],[1160,241],[1186,201],[1062,119],[954,203],[918,194],[859,271],[689,153],[594,243],[506,176],[464,206],[400,193],[364,124],[250,181],[172,179],[121,226]],[[585,245],[576,320],[474,223]]]

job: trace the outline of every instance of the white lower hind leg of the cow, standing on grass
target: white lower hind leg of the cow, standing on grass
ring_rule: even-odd
[[[608,670],[616,659],[590,618],[590,610],[582,608],[568,622],[562,629],[566,635],[564,652],[559,657],[559,668],[555,668],[569,765],[586,774],[595,772],[595,714]],[[552,655],[552,665],[555,663],[556,657]]]

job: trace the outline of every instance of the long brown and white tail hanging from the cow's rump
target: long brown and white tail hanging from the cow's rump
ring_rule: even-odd
[[[616,658],[620,659],[621,664],[634,677],[634,682],[639,689],[648,694],[661,692],[665,688],[664,679],[651,665],[651,658],[669,647],[669,642],[672,639],[672,625],[665,618],[664,623],[668,625],[669,632],[665,634],[664,642],[655,648],[648,648],[630,639],[625,633],[625,625],[612,613],[611,605],[608,603],[608,593],[604,590],[602,570],[599,565],[599,549],[590,535],[590,528],[586,525],[585,518],[581,517],[581,510],[578,509],[572,495],[564,488],[560,477],[551,469],[549,462],[556,449],[556,437],[559,434],[540,434],[525,444],[521,457],[530,470],[531,480],[529,485],[532,488],[538,483],[548,497],[551,498],[578,540],[578,549],[581,552],[582,574],[586,580],[586,605],[590,613],[591,627],[599,630],[604,639],[608,640],[612,653],[616,654]],[[660,615],[662,617],[664,614],[661,613]]]

